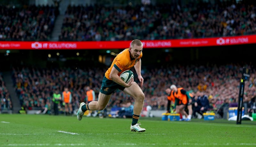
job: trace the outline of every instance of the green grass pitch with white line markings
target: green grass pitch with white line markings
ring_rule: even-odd
[[[254,147],[256,121],[162,121],[140,118],[143,133],[131,132],[131,119],[0,114],[0,147]]]

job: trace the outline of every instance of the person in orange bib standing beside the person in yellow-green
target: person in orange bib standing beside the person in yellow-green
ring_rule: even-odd
[[[71,92],[68,91],[68,88],[65,87],[64,91],[62,92],[62,101],[64,103],[65,107],[65,114],[72,114],[73,108],[72,108],[72,95]]]

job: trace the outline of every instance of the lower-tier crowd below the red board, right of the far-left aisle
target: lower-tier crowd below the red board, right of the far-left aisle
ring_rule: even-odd
[[[242,77],[242,66],[239,64],[225,64],[220,66],[196,66],[174,65],[172,67],[142,69],[145,93],[144,107],[151,106],[153,109],[164,110],[167,105],[165,89],[174,84],[184,87],[187,91],[196,93],[200,91],[209,97],[210,104],[215,107],[234,100],[238,102],[239,82]],[[255,97],[256,75],[255,68],[248,65],[252,70],[251,80],[245,82],[244,103],[250,103]],[[68,87],[72,93],[73,110],[77,110],[80,102],[85,100],[86,86],[91,86],[96,97],[99,94],[101,83],[99,79],[104,76],[106,69],[81,68],[81,69],[38,69],[38,68],[13,68],[13,79],[16,91],[20,98],[20,104],[26,109],[42,107],[46,101],[51,101],[54,91],[63,91]],[[136,75],[135,75],[135,80]],[[138,81],[137,81],[138,82]],[[255,98],[254,98],[255,99]],[[133,98],[117,90],[113,93],[107,107],[121,107],[122,102],[131,101]],[[62,106],[60,106],[62,107]]]

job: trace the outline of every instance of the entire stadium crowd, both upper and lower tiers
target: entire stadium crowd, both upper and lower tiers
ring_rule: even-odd
[[[255,10],[254,5],[244,1],[238,1],[237,4],[227,1],[216,5],[201,1],[183,7],[179,4],[141,4],[134,7],[69,5],[59,40],[157,40],[255,34]],[[35,5],[22,8],[0,5],[0,11],[0,40],[19,41],[50,40],[55,18],[59,14],[54,6]],[[255,97],[255,67],[248,65],[248,68],[252,72],[251,80],[245,83],[245,103]],[[144,106],[165,109],[167,102],[164,90],[172,84],[184,87],[189,92],[203,92],[211,99],[212,106],[214,103],[224,103],[226,99],[237,102],[241,69],[239,64],[144,68],[142,75],[145,81],[141,87],[146,95]],[[54,91],[62,92],[64,87],[68,87],[73,97],[73,110],[76,110],[79,102],[85,99],[85,86],[91,86],[98,96],[101,86],[98,79],[103,78],[105,71],[106,68],[89,67],[14,67],[13,85],[20,105],[28,110],[44,107],[46,102],[51,101]],[[8,100],[9,96],[1,81],[2,106],[2,101]],[[133,98],[117,91],[107,107],[120,107],[123,101],[133,102]]]

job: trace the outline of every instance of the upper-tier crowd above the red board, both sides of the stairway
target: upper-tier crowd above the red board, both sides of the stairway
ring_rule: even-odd
[[[198,1],[155,5],[67,7],[60,41],[157,40],[256,33],[254,2]],[[59,15],[52,6],[0,5],[0,40],[47,41]]]

